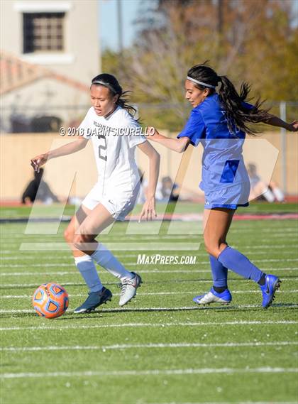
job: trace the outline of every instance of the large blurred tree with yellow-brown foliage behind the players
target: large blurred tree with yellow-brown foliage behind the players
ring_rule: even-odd
[[[237,86],[251,82],[254,94],[294,99],[298,30],[289,0],[158,0],[145,6],[122,73],[134,99],[165,106],[160,126],[165,120],[179,129],[189,112],[183,102],[187,70],[205,60]],[[154,118],[148,109],[143,114],[146,121]]]

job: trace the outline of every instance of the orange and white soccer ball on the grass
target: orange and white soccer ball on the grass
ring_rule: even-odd
[[[60,317],[68,307],[68,293],[57,283],[43,283],[35,290],[32,304],[39,316]]]

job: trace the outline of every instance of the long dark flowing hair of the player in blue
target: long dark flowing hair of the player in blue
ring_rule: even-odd
[[[226,76],[219,76],[217,73],[204,62],[202,65],[193,66],[187,72],[188,77],[192,77],[194,80],[204,82],[216,87],[219,82],[221,87],[219,88],[219,102],[223,109],[226,111],[226,119],[228,122],[228,129],[233,133],[235,131],[235,125],[241,131],[244,131],[250,135],[255,135],[258,130],[251,128],[248,124],[256,124],[263,122],[270,117],[268,114],[269,109],[261,109],[263,101],[257,99],[253,104],[252,109],[245,108],[243,102],[249,102],[248,94],[250,92],[250,84],[243,82],[241,84],[240,94],[238,94],[233,83],[228,80]],[[215,89],[204,86],[202,84],[195,84],[199,89],[209,88],[209,94],[214,94]],[[250,102],[251,103],[251,102]]]

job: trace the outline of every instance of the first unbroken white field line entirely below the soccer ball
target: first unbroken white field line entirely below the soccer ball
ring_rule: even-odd
[[[143,322],[132,322],[132,323],[123,323],[123,324],[90,324],[90,325],[57,325],[55,326],[47,326],[42,325],[40,327],[0,327],[0,331],[20,331],[20,330],[38,330],[42,331],[43,329],[59,329],[62,331],[63,329],[92,329],[92,328],[129,328],[129,327],[225,327],[226,325],[291,325],[298,324],[298,321],[295,320],[277,320],[277,321],[227,321],[227,322],[167,322],[167,323],[143,323]]]

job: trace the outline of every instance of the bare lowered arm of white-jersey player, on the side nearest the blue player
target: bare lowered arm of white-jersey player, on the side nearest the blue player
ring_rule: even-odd
[[[149,183],[145,192],[146,200],[143,204],[142,212],[138,222],[145,216],[146,220],[152,220],[152,217],[157,217],[155,212],[155,192],[158,184],[158,175],[160,173],[160,155],[148,141],[138,144],[140,151],[143,151],[149,158]]]

